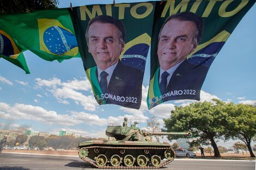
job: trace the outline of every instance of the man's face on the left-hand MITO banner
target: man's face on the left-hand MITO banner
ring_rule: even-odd
[[[124,51],[119,42],[119,30],[110,23],[94,22],[88,30],[88,52],[93,55],[97,66],[112,66]],[[101,68],[105,70],[105,68]]]

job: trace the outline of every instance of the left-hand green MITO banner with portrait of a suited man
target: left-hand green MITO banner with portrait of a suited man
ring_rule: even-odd
[[[70,10],[84,70],[97,103],[139,109],[155,2]]]

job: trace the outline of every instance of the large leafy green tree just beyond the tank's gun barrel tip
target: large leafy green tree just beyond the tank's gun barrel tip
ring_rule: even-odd
[[[225,132],[227,113],[223,110],[224,102],[212,99],[213,102],[197,102],[188,106],[175,106],[170,118],[164,119],[165,131],[191,131],[193,137],[201,142],[210,141],[214,148],[214,156],[220,157],[216,140]],[[174,137],[168,136],[169,140]]]

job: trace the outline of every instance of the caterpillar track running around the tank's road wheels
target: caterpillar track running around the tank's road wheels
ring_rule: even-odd
[[[159,148],[159,147],[103,147],[103,146],[91,146],[91,147],[82,147],[82,148],[86,148],[86,149],[89,149],[89,148],[107,148],[107,149],[171,149],[170,147],[166,147],[166,148]],[[79,154],[78,154],[79,155]],[[79,155],[80,156],[80,155]],[[80,156],[81,158],[81,156]],[[175,155],[174,155],[174,158],[175,158]],[[89,163],[90,165],[96,167],[96,168],[107,168],[107,169],[157,169],[157,168],[161,168],[165,165],[167,165],[168,163],[172,162],[173,159],[171,160],[167,160],[167,161],[164,161],[162,162],[159,166],[155,167],[155,166],[144,166],[144,167],[140,167],[140,166],[131,166],[131,167],[127,167],[127,166],[98,166],[96,165],[96,163],[94,161],[92,161],[91,159],[89,158],[81,158],[82,160],[86,161],[87,163]]]

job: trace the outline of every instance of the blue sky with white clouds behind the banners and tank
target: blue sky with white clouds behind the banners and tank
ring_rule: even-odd
[[[113,1],[71,1],[73,7],[112,3]],[[115,1],[139,2],[139,1]],[[60,1],[59,8],[69,7],[70,1]],[[256,6],[247,12],[225,43],[210,67],[204,81],[201,100],[219,98],[234,103],[256,103]],[[99,106],[93,97],[81,59],[45,61],[25,52],[31,74],[10,62],[0,59],[0,129],[31,129],[58,134],[68,130],[79,135],[99,137],[107,125],[118,125],[123,118],[138,121],[139,127],[155,116],[163,125],[175,105],[186,105],[191,100],[174,100],[147,109],[149,62],[143,81],[141,109],[127,109],[117,105]],[[227,146],[227,143],[221,143]]]

